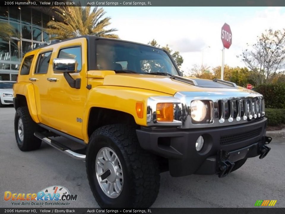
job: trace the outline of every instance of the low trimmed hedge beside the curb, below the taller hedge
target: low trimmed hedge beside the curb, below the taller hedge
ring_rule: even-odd
[[[276,126],[281,123],[285,124],[285,109],[283,108],[265,108],[265,117],[267,117],[267,125]]]

